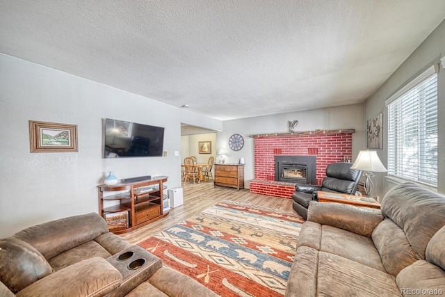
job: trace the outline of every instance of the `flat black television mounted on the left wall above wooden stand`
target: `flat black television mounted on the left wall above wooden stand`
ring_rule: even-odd
[[[164,128],[105,119],[104,158],[162,156]]]

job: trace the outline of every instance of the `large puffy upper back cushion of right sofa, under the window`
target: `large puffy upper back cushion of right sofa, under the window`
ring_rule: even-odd
[[[428,242],[445,225],[444,197],[414,183],[405,183],[387,192],[381,209],[405,232],[418,259],[425,259]]]

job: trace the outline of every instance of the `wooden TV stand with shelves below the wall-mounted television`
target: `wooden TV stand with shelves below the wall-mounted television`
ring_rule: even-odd
[[[167,179],[167,176],[157,176],[115,186],[100,184],[99,211],[107,221],[108,229],[122,234],[167,216],[168,213],[163,214],[162,204],[163,190],[167,188],[163,183]]]

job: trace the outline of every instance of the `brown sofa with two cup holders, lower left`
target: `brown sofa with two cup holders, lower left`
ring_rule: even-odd
[[[217,296],[98,214],[53,220],[0,239],[0,296]]]

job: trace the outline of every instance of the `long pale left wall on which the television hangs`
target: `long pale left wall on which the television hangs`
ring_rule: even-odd
[[[124,90],[0,54],[0,237],[47,220],[99,211],[97,184],[168,175],[181,185],[181,122],[223,122]],[[102,158],[104,118],[165,127],[165,157]],[[79,152],[30,153],[29,120],[78,126]]]

